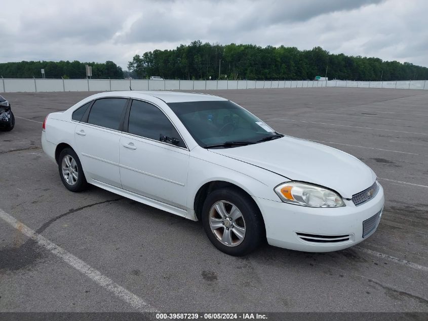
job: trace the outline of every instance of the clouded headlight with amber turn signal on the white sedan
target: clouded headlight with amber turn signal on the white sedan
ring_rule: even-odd
[[[275,193],[283,202],[309,207],[345,206],[340,195],[328,189],[301,182],[278,185]]]

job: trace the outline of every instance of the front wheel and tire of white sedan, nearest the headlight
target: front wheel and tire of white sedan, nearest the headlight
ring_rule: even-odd
[[[259,208],[249,195],[236,188],[210,193],[205,199],[201,219],[211,243],[228,255],[249,254],[263,239],[264,224]]]

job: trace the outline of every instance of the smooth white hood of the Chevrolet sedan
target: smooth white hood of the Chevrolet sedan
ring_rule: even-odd
[[[376,179],[375,173],[356,157],[290,136],[210,151],[275,172],[289,180],[327,187],[345,198],[370,187]]]

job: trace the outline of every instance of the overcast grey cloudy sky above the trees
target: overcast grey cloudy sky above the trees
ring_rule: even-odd
[[[112,60],[193,40],[428,66],[426,0],[2,0],[0,62]]]

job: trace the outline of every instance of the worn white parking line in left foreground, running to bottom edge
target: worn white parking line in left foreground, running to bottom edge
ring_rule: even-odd
[[[71,253],[68,253],[62,247],[58,246],[57,244],[51,242],[42,235],[31,230],[29,227],[15,219],[13,216],[8,214],[1,208],[0,218],[9,225],[11,225],[13,228],[17,229],[24,235],[34,240],[38,245],[46,248],[49,252],[62,259],[65,263],[67,263],[77,271],[89,277],[91,280],[93,280],[105,290],[112,292],[116,297],[127,302],[136,310],[140,312],[157,312],[156,309],[145,303],[140,297],[121,287],[118,283],[115,283],[109,277],[102,275],[100,271],[94,269],[81,259],[72,255]]]

